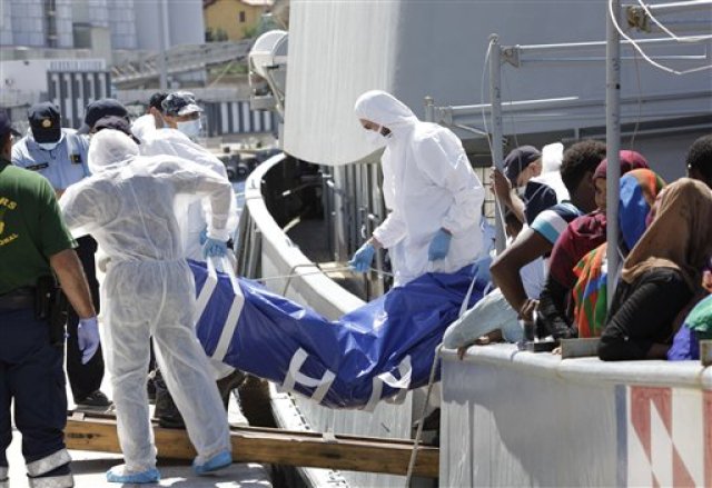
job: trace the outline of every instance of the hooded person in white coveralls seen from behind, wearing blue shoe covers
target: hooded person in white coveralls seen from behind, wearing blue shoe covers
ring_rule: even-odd
[[[160,478],[146,391],[150,337],[198,452],[194,470],[200,475],[231,462],[225,410],[194,330],[195,281],[174,215],[178,199],[209,198],[204,252],[225,256],[231,187],[191,161],[138,153],[122,132],[96,133],[89,146],[93,175],[60,200],[70,230],[91,232],[110,257],[101,318],[126,460],[107,472],[113,482]]]

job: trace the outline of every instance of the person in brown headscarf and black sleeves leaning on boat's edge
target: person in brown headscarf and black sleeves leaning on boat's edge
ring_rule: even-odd
[[[659,196],[650,227],[623,263],[599,357],[665,359],[674,323],[704,296],[712,256],[712,191],[682,178]]]

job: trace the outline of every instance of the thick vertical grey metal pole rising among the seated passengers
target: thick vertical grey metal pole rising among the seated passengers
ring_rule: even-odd
[[[606,14],[606,69],[605,69],[605,140],[606,158],[606,241],[607,241],[607,305],[611,308],[619,268],[619,181],[621,179],[621,36],[611,16],[620,19],[621,0],[612,0]],[[620,23],[619,23],[620,24]]]

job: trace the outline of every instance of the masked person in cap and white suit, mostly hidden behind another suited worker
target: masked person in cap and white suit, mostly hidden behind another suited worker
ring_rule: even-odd
[[[225,181],[229,181],[222,161],[190,139],[190,137],[195,137],[199,132],[199,129],[196,131],[196,127],[200,125],[199,114],[202,112],[202,109],[196,104],[192,93],[188,91],[169,93],[162,100],[161,106],[166,126],[157,128],[155,131],[142,133],[139,147],[141,155],[178,156],[204,166],[221,176]],[[176,210],[178,225],[182,231],[186,258],[195,259],[196,261],[204,260],[201,239],[205,238],[206,205],[207,202],[205,201],[202,205],[198,201],[192,202],[187,208],[178,208]],[[237,205],[235,198],[233,198],[227,222],[227,230],[230,236],[235,232],[235,229],[237,229]]]

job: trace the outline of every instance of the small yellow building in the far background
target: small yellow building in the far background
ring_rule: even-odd
[[[238,41],[260,30],[274,0],[202,0],[206,41]]]

